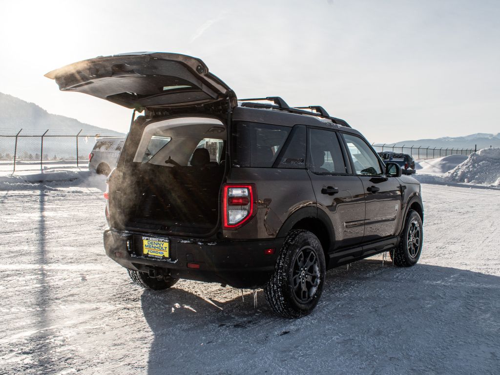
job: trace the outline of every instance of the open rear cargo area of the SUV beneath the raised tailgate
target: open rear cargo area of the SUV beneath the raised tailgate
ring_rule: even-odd
[[[123,229],[203,235],[218,223],[225,126],[182,117],[146,123],[110,178],[110,215]],[[140,139],[140,140],[139,140]],[[113,190],[113,191],[111,191]]]

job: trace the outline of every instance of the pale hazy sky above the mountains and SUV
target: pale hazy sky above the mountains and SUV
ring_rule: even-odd
[[[131,110],[49,70],[130,51],[201,58],[238,97],[322,105],[370,142],[500,131],[500,1],[0,0],[0,91],[126,131]]]

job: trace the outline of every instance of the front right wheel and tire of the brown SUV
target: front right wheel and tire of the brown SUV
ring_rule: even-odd
[[[423,226],[420,215],[410,209],[399,240],[399,244],[389,251],[394,265],[411,267],[416,264],[422,252]]]

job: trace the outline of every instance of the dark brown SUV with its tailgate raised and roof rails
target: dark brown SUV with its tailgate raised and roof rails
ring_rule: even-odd
[[[275,312],[299,317],[326,269],[387,250],[399,266],[420,256],[420,185],[320,106],[237,100],[201,60],[174,53],[97,57],[46,76],[143,111],[108,177],[104,231],[107,255],[143,287],[263,287]]]

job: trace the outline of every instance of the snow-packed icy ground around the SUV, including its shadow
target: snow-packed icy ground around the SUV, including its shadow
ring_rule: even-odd
[[[328,271],[298,320],[262,292],[143,291],[102,249],[99,189],[0,191],[0,373],[497,374],[500,191],[422,185],[420,262]]]

